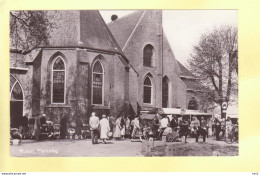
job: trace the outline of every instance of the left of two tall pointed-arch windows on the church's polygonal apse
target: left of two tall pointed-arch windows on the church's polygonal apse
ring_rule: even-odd
[[[52,103],[65,103],[65,71],[65,62],[58,56],[52,65]]]

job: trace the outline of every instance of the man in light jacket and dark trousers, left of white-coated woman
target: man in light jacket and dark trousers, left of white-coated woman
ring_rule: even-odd
[[[96,116],[95,112],[92,112],[89,118],[89,126],[91,132],[92,144],[98,143],[98,130],[99,130],[99,118]]]

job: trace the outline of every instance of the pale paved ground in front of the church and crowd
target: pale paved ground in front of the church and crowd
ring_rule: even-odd
[[[189,138],[187,145],[195,144],[194,138]],[[201,140],[200,140],[201,141]],[[238,147],[238,144],[226,144],[223,141],[207,139],[210,145],[226,147],[232,145]],[[179,142],[167,143],[167,145],[178,144]],[[155,146],[160,146],[160,141],[155,141]],[[176,145],[177,146],[177,145]],[[141,154],[142,143],[126,140],[111,140],[108,144],[99,143],[92,145],[91,140],[22,140],[19,146],[10,146],[11,156],[14,157],[133,157],[143,156]]]

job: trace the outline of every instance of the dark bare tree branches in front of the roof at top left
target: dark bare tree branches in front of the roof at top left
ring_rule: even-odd
[[[10,45],[24,51],[49,45],[53,26],[48,11],[10,11]]]

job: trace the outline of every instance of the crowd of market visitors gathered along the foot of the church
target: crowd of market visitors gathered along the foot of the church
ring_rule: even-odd
[[[86,134],[83,119],[78,116],[75,122],[68,123],[67,118],[62,117],[58,127],[55,127],[53,122],[46,120],[45,114],[35,118],[34,122],[30,122],[27,116],[23,116],[19,128],[11,129],[11,137],[23,139],[27,136],[31,139],[54,139],[59,136],[61,139],[68,137],[83,139]],[[180,116],[159,114],[156,114],[151,120],[142,119],[141,114],[135,117],[129,115],[108,117],[103,114],[100,119],[93,112],[89,118],[88,126],[93,144],[97,143],[97,139],[107,143],[107,140],[112,138],[114,140],[127,138],[131,141],[142,141],[143,138],[153,137],[160,140],[162,136],[167,136],[173,131],[177,132],[179,137],[183,137],[186,143],[187,137],[193,137],[198,142],[200,136],[205,142],[208,135],[215,136],[215,139],[219,141],[221,137],[231,132],[232,121],[229,117],[227,120],[218,116],[207,120],[201,117],[199,120],[193,116],[190,120],[190,118]]]

